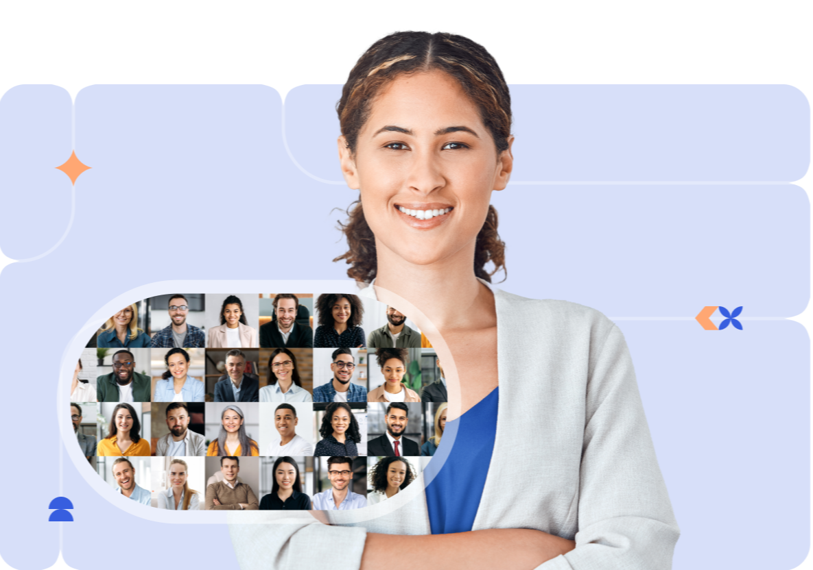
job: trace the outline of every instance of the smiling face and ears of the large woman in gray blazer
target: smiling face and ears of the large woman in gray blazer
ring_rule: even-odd
[[[476,105],[441,71],[393,80],[373,101],[355,156],[343,139],[339,151],[379,258],[421,266],[473,251],[491,191],[506,187],[512,165],[511,149],[498,156]]]

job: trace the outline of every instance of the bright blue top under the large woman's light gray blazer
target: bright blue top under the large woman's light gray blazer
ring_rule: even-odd
[[[499,387],[463,416],[446,422],[444,431],[457,430],[457,437],[443,467],[426,487],[433,534],[465,533],[474,525],[497,436],[498,403]]]

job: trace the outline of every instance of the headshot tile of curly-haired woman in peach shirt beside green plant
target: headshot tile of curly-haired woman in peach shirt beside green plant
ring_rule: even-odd
[[[368,402],[420,402],[420,348],[376,348],[368,367]]]

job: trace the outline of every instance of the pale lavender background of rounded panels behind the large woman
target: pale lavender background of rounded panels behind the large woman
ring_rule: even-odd
[[[76,153],[93,169],[77,181],[72,229],[54,253],[0,275],[3,395],[16,403],[3,425],[18,443],[0,470],[3,511],[15,513],[0,522],[10,568],[56,558],[59,525],[47,524],[59,494],[54,380],[63,347],[98,307],[165,279],[345,276],[330,261],[344,248],[334,229],[344,216],[331,210],[358,192],[318,180],[341,182],[337,93],[307,86],[286,97],[299,166],[271,88],[79,93]],[[813,114],[789,86],[519,85],[512,94],[515,183],[781,183],[801,178],[813,158]],[[71,99],[19,85],[0,100],[0,124],[0,247],[37,256],[68,223],[71,184],[54,166],[71,153]],[[516,294],[610,317],[693,317],[719,304],[743,305],[742,317],[789,317],[813,296],[811,205],[793,185],[511,184],[493,203],[508,244],[510,277],[499,287]],[[222,239],[226,224],[241,228],[240,248]],[[273,261],[280,247],[296,253],[284,266]],[[213,262],[222,259],[245,269],[226,274]],[[719,332],[693,321],[619,324],[682,531],[674,568],[798,565],[813,546],[806,331],[786,320]],[[115,564],[123,532],[162,564],[237,568],[225,525],[131,516],[67,460],[63,485],[76,507],[64,556],[80,570]]]

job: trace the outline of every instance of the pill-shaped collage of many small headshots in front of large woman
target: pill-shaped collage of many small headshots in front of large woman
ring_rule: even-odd
[[[171,293],[79,355],[72,424],[99,477],[174,510],[347,510],[415,480],[446,425],[431,344],[349,293]]]

